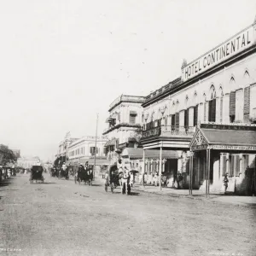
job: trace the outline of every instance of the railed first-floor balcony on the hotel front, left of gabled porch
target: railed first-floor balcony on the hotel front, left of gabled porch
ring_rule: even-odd
[[[184,137],[192,138],[195,134],[195,126],[161,125],[143,131],[143,137]]]

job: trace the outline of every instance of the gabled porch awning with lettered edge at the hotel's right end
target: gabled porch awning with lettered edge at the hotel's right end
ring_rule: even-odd
[[[256,126],[202,124],[189,145],[191,151],[203,149],[256,151]]]

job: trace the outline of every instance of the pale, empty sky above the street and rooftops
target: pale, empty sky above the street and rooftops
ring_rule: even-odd
[[[121,94],[147,96],[251,25],[255,0],[0,1],[0,143],[52,160],[107,127]]]

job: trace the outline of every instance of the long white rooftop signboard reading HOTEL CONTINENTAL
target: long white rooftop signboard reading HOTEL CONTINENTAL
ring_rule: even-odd
[[[225,41],[224,44],[218,45],[216,48],[202,55],[195,61],[189,63],[182,70],[183,81],[194,78],[196,75],[203,73],[207,69],[218,65],[218,63],[229,59],[247,49],[253,44],[253,26],[236,34],[233,38]]]

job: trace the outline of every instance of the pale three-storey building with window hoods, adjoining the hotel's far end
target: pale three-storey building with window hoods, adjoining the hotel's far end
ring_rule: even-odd
[[[119,157],[116,151],[120,153],[126,147],[137,148],[137,131],[140,130],[143,121],[144,100],[143,96],[121,95],[110,104],[106,120],[108,127],[103,131],[103,135],[108,136],[105,148],[108,159],[112,162]]]

